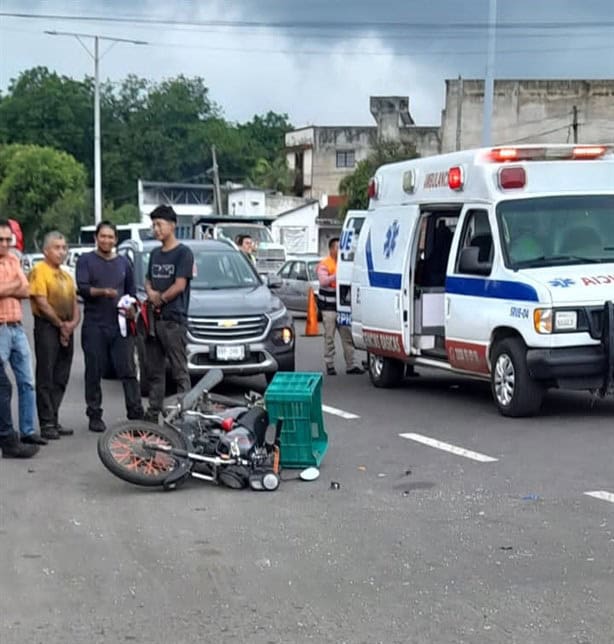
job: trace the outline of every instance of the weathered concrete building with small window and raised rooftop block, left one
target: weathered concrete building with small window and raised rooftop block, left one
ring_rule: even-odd
[[[294,193],[319,199],[337,195],[339,182],[367,158],[378,141],[413,144],[421,156],[437,154],[439,127],[418,127],[403,96],[373,96],[374,126],[308,126],[286,134],[286,160],[296,170]]]

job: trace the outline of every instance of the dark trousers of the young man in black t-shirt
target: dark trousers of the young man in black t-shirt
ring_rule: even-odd
[[[152,411],[160,411],[164,404],[167,360],[177,393],[190,389],[186,332],[184,324],[156,320],[156,335],[147,336],[145,340],[145,371],[149,382],[149,408]]]

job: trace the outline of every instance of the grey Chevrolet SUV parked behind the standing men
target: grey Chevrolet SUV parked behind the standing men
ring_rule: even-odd
[[[225,374],[263,374],[270,381],[277,371],[294,371],[294,323],[283,302],[271,292],[280,285],[279,277],[261,278],[250,260],[224,241],[183,243],[194,253],[188,310],[190,375],[196,377],[215,367]],[[134,265],[138,295],[143,299],[149,255],[158,245],[130,240],[118,247],[118,253]],[[144,352],[141,333],[137,336],[141,365]]]

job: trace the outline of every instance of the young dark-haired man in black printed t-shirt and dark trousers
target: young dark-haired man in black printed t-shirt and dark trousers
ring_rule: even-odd
[[[167,359],[177,392],[190,389],[186,332],[194,256],[175,237],[177,215],[170,206],[158,206],[150,217],[154,236],[162,242],[149,256],[145,276],[150,310],[155,311],[155,333],[148,334],[145,341],[145,371],[149,382],[146,418],[157,422],[164,401]]]

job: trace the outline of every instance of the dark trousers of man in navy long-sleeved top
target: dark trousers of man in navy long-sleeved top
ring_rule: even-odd
[[[100,380],[113,365],[122,381],[129,419],[143,417],[141,389],[134,365],[134,337],[122,337],[119,328],[83,324],[81,346],[85,357],[85,403],[89,418],[102,418]]]

